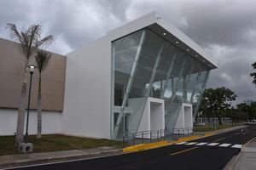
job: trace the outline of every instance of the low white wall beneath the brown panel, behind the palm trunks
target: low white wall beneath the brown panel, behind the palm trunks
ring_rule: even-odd
[[[14,109],[0,109],[0,135],[13,135],[16,132],[18,111]],[[28,133],[38,131],[37,111],[30,111]],[[24,133],[26,132],[26,121]],[[42,133],[61,133],[61,112],[43,111]]]

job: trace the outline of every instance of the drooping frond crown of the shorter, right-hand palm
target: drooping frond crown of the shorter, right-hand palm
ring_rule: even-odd
[[[38,53],[35,56],[35,59],[38,64],[38,71],[41,73],[44,71],[49,64],[49,59],[51,57],[51,54],[49,52],[46,52],[44,50],[38,50]]]

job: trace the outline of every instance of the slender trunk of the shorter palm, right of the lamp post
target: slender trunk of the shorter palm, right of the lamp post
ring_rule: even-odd
[[[42,99],[41,99],[41,73],[39,73],[39,87],[38,87],[38,136],[37,139],[42,137]]]

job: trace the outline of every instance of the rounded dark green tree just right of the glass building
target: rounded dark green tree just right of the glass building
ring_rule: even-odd
[[[207,104],[207,111],[218,117],[219,124],[221,122],[222,113],[230,109],[231,102],[236,100],[236,94],[229,88],[207,88],[202,95],[202,103]],[[201,107],[205,107],[202,105]]]

